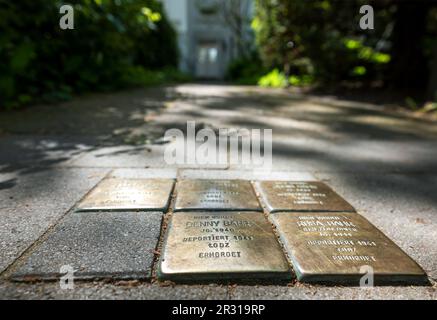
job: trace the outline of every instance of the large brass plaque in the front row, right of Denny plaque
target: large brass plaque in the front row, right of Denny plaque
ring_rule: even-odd
[[[375,283],[426,281],[416,262],[357,213],[277,213],[270,219],[300,281],[358,286],[370,270],[365,266],[373,268]]]

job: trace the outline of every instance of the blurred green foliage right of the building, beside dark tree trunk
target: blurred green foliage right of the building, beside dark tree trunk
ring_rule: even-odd
[[[375,30],[362,31],[359,8],[367,2],[256,0],[252,28],[264,66],[319,83],[383,78],[392,13],[376,10]]]

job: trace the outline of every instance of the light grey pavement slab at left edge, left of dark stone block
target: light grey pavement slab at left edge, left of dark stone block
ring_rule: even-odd
[[[105,169],[49,169],[0,174],[0,271],[72,208]]]

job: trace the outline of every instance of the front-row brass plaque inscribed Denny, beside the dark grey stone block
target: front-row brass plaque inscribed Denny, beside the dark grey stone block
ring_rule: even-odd
[[[158,270],[162,280],[291,278],[261,212],[178,212],[167,232]]]

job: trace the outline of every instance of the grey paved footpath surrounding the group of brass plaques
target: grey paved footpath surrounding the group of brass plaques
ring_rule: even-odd
[[[198,130],[273,129],[274,171],[260,174],[253,166],[230,161],[166,164],[165,148],[177,143],[162,139],[163,133],[172,128],[185,132],[187,121],[193,120]],[[431,120],[334,97],[193,84],[91,95],[0,113],[0,150],[0,298],[437,298],[437,123]],[[11,281],[54,230],[69,228],[71,209],[108,175],[324,181],[415,259],[431,286],[159,283],[155,270],[141,263],[156,261],[159,247],[140,255],[132,266],[138,273],[126,280],[99,281],[91,276],[77,281],[74,290],[62,290],[56,281]],[[159,236],[156,228],[138,230],[135,215],[118,218],[126,233],[136,237],[123,240],[118,234],[121,241],[136,245],[142,234]],[[81,234],[93,231],[105,231],[98,216],[86,230],[75,231],[78,252],[86,245]],[[99,252],[102,259],[105,250],[117,248],[104,247]],[[44,254],[55,261],[63,252]],[[122,261],[113,264],[123,267]],[[148,272],[152,278],[144,279]]]

